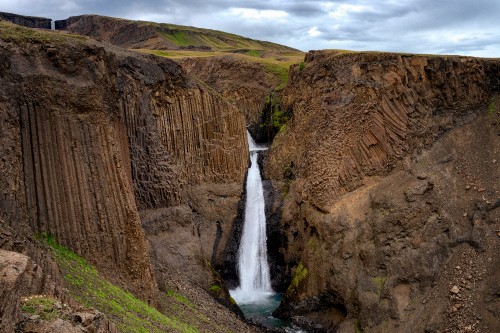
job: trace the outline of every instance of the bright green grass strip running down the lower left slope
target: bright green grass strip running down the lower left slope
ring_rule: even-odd
[[[176,316],[159,312],[130,292],[110,283],[84,258],[59,245],[52,236],[43,234],[38,238],[52,248],[71,295],[83,305],[105,313],[120,332],[199,332],[197,327]],[[186,297],[173,291],[168,296],[188,307],[193,306]]]

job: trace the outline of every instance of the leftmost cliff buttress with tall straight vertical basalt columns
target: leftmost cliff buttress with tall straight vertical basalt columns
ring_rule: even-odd
[[[100,268],[115,267],[151,297],[154,282],[116,107],[116,57],[80,43],[3,41],[1,47],[8,58],[1,110],[12,124],[3,135],[15,149],[2,171],[18,172],[5,178],[16,182],[4,188],[4,197],[16,203],[6,220],[27,219],[34,232],[54,235]]]

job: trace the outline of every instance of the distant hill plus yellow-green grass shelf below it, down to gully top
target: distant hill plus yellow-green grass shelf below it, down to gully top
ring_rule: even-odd
[[[66,23],[71,32],[177,60],[231,55],[262,64],[281,81],[286,79],[289,66],[304,57],[303,52],[288,46],[217,30],[97,15],[71,17]]]

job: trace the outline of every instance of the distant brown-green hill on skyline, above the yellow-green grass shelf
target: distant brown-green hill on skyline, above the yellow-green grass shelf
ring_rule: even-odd
[[[69,30],[126,48],[247,52],[296,52],[287,46],[258,41],[227,32],[195,27],[131,21],[98,15],[73,16],[56,21],[56,29]]]

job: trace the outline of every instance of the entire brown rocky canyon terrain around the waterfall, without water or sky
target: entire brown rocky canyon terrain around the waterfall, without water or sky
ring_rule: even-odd
[[[1,331],[72,332],[78,316],[133,331],[82,301],[60,246],[182,321],[159,331],[272,331],[228,292],[247,128],[269,144],[275,316],[310,332],[500,327],[500,60],[302,54],[92,15],[56,29],[0,21]],[[72,314],[40,321],[30,295]]]

